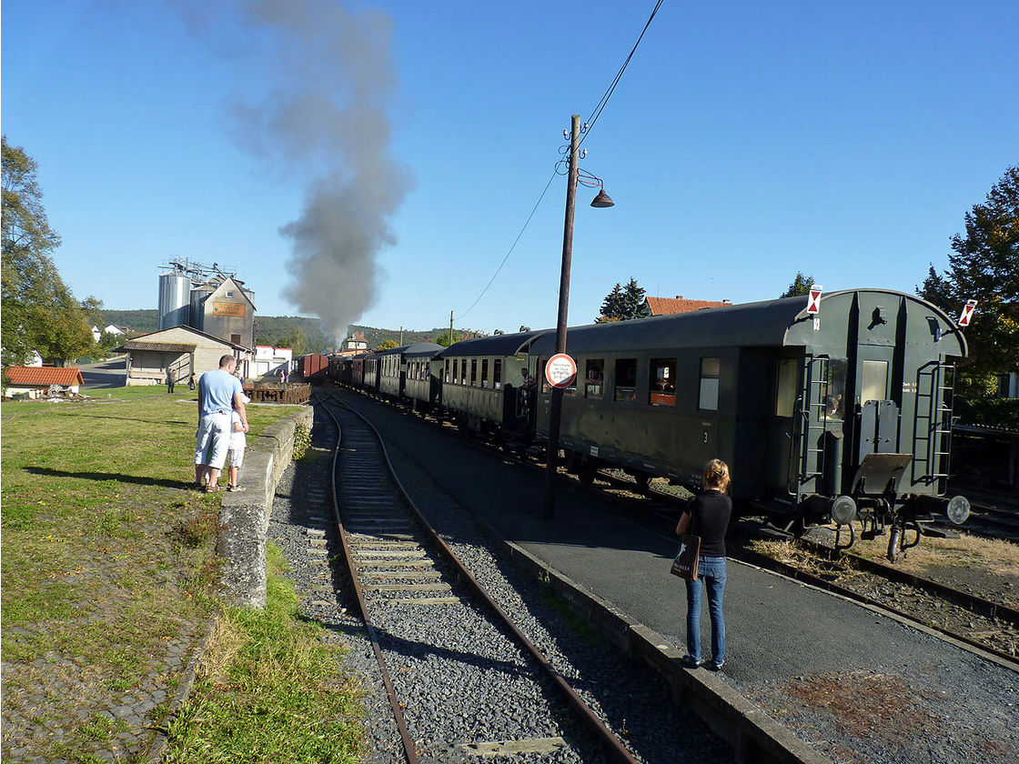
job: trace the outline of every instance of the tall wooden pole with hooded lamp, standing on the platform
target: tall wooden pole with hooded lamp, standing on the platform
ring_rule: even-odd
[[[591,207],[612,207],[614,203],[605,194],[601,178],[581,170],[580,160],[580,114],[574,114],[570,130],[570,172],[567,181],[567,214],[562,226],[562,268],[559,271],[559,312],[555,323],[555,353],[567,351],[567,313],[570,306],[570,263],[573,259],[573,219],[577,201],[578,181],[586,186],[598,186],[598,196]],[[586,153],[585,149],[585,153]],[[538,370],[544,373],[543,370]],[[579,370],[578,370],[579,373]],[[545,500],[544,516],[550,520],[555,514],[555,476],[559,456],[559,416],[562,412],[562,388],[552,387],[551,406],[548,411],[548,451],[545,456]]]

